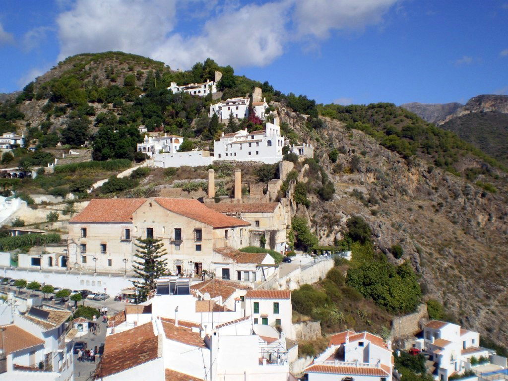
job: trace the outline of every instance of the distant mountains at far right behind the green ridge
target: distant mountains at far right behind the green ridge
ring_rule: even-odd
[[[460,103],[401,105],[508,165],[508,96],[485,94]]]

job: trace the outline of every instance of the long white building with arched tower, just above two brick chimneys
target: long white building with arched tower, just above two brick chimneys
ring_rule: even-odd
[[[213,142],[214,160],[256,161],[274,164],[282,160],[284,137],[277,124],[266,123],[261,131],[240,130],[222,134]]]

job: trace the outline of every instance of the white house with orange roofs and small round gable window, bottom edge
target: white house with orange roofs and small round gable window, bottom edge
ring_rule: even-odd
[[[330,337],[328,348],[305,368],[308,381],[391,381],[392,344],[368,332]]]

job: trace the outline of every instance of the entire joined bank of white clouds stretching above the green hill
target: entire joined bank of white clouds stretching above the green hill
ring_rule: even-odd
[[[121,50],[174,69],[188,69],[207,57],[220,65],[265,66],[289,42],[326,38],[332,29],[362,29],[382,21],[396,2],[272,0],[242,6],[238,0],[76,0],[57,18],[58,58]],[[175,30],[177,11],[196,22],[195,31]]]

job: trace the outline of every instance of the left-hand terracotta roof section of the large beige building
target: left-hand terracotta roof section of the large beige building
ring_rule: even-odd
[[[125,223],[146,199],[93,199],[70,223]]]

